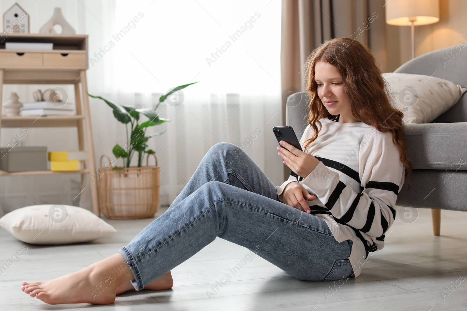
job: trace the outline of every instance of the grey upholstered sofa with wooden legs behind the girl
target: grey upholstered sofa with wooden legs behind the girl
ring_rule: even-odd
[[[436,76],[467,87],[467,46],[439,49],[420,55],[394,72]],[[410,190],[407,183],[397,196],[396,205],[431,208],[433,234],[439,235],[440,211],[467,210],[467,92],[451,109],[427,124],[406,124],[405,141],[413,171]],[[286,125],[292,126],[300,138],[308,125],[307,92],[287,98]],[[401,208],[401,217],[406,212]],[[415,220],[415,219],[414,219]],[[412,220],[412,221],[414,221]],[[406,221],[410,222],[410,221]]]

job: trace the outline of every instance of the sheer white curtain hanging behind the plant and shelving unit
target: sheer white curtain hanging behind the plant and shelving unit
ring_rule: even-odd
[[[5,11],[9,2],[14,3],[2,1],[0,8]],[[90,94],[118,104],[149,108],[155,107],[160,95],[170,88],[199,81],[179,94],[184,97],[182,104],[161,103],[157,112],[171,121],[150,129],[166,130],[149,140],[161,166],[161,205],[177,197],[199,161],[218,142],[238,145],[274,184],[283,182],[282,159],[277,156],[277,141],[271,130],[282,125],[280,1],[73,0],[39,1],[34,6],[24,2],[19,4],[31,15],[31,32],[38,32],[53,7],[62,7],[77,33],[89,35]],[[25,93],[32,93],[34,87],[6,86],[4,100],[10,89],[23,88]],[[91,99],[91,111],[96,158],[110,156],[115,143],[126,142],[125,127],[114,120],[110,108],[100,100]],[[2,141],[14,135],[14,129],[8,131],[12,132],[2,131]],[[39,131],[44,130],[29,132],[36,135]],[[40,143],[49,150],[70,150],[77,147],[68,139],[73,131],[54,132],[58,135],[54,143],[43,135],[37,140],[36,135],[35,140],[25,140],[24,145]],[[43,201],[90,208],[87,188],[73,200],[85,187],[79,186],[79,178],[61,178],[48,179],[49,187],[60,189],[60,195],[52,195],[53,189],[40,185],[40,178],[7,178],[21,185],[21,193],[28,199],[3,197],[2,208],[5,211]],[[4,189],[9,187],[6,178],[0,182]],[[67,182],[72,186],[64,187]],[[41,198],[35,191],[51,195]],[[71,201],[64,202],[64,197]]]

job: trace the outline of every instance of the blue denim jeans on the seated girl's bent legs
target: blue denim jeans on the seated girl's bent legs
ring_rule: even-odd
[[[167,211],[119,250],[136,290],[195,255],[216,236],[246,247],[300,280],[352,274],[352,240],[338,243],[324,219],[290,207],[239,147],[218,143]]]

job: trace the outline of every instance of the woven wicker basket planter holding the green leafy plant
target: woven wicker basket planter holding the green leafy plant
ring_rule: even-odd
[[[99,209],[110,219],[139,219],[153,217],[159,209],[159,171],[156,166],[130,166],[107,169],[98,180]],[[107,157],[103,155],[102,159]],[[109,159],[110,165],[110,159]],[[111,165],[110,165],[111,166]]]

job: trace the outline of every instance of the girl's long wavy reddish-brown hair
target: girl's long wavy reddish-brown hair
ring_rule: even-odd
[[[382,70],[376,63],[375,55],[359,41],[350,38],[334,38],[323,42],[308,56],[305,63],[305,87],[310,95],[308,124],[313,136],[305,141],[307,150],[321,130],[324,117],[333,118],[318,96],[318,86],[314,79],[317,62],[333,64],[344,80],[344,92],[350,98],[352,116],[381,132],[392,132],[392,141],[400,152],[400,159],[405,166],[405,182],[410,189],[409,174],[412,171],[407,157],[407,145],[404,141],[403,112],[394,108],[389,100],[389,85],[382,77]],[[319,124],[319,129],[316,123]],[[406,192],[407,192],[406,190]]]

